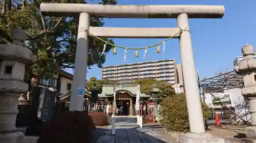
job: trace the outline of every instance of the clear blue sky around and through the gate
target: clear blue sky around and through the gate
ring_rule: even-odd
[[[234,0],[117,0],[119,5],[223,5],[225,14],[222,19],[189,19],[191,39],[194,50],[196,69],[200,77],[211,77],[216,71],[233,70],[233,61],[242,55],[241,48],[246,44],[256,46],[256,1]],[[104,19],[104,26],[112,27],[177,27],[176,19]],[[144,47],[158,43],[164,39],[114,39],[116,45],[125,47]],[[156,53],[156,48],[139,50],[139,58],[135,51],[128,50],[125,63],[175,59],[181,63],[178,39],[166,42],[164,53]],[[123,64],[123,49],[117,49],[106,55],[104,66]],[[73,73],[72,69],[66,71]],[[101,79],[101,69],[94,66],[88,70],[87,79]]]

